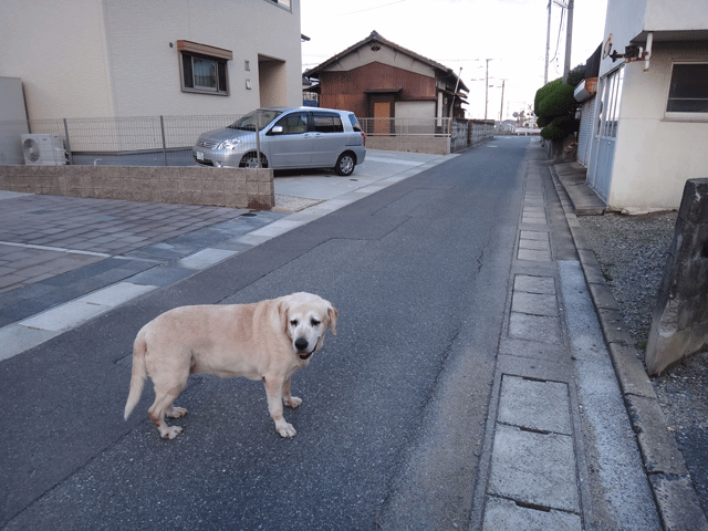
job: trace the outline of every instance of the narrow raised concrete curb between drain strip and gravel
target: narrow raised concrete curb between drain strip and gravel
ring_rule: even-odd
[[[576,190],[566,189],[554,165],[550,164],[549,169],[580,257],[664,529],[708,531],[708,520],[684,456],[668,431],[666,418],[639,353],[633,346],[620,306],[577,221],[575,205],[585,201],[572,199],[570,192]]]

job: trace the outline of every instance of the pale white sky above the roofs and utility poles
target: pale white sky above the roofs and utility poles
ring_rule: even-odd
[[[563,75],[566,10],[553,0],[549,81]],[[549,0],[301,0],[303,71],[372,31],[459,73],[468,118],[512,118],[543,86]],[[571,69],[604,40],[607,0],[574,0]],[[489,60],[489,61],[487,61]],[[460,67],[462,69],[460,72]],[[489,69],[487,71],[487,67]],[[485,93],[485,80],[488,91]],[[503,105],[502,105],[503,84]]]

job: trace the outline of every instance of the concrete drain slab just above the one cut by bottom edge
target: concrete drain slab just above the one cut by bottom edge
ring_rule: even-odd
[[[488,493],[579,512],[573,438],[498,424]]]

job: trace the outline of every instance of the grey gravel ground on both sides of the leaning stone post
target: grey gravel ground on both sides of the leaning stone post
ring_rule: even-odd
[[[644,355],[676,211],[579,217],[635,346]],[[685,358],[653,378],[671,431],[708,513],[708,352]]]

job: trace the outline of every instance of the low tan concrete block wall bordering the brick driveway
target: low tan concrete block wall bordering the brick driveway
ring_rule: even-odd
[[[0,189],[258,210],[275,204],[272,169],[1,165]]]

